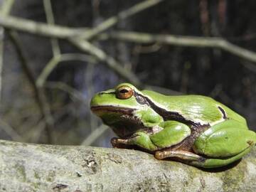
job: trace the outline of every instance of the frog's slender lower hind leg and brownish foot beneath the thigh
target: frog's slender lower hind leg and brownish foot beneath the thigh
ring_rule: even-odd
[[[178,161],[181,161],[186,164],[190,164],[193,166],[199,166],[203,168],[214,168],[219,166],[225,166],[233,161],[236,161],[245,154],[247,154],[250,149],[254,146],[254,144],[251,144],[248,146],[244,151],[240,152],[240,154],[237,154],[235,156],[231,156],[228,158],[223,159],[208,159],[205,156],[200,156],[198,154],[194,154],[193,152],[189,151],[156,151],[155,157],[156,159],[166,159],[166,158],[175,158]]]

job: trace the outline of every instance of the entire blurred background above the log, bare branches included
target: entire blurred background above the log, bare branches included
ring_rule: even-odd
[[[110,146],[119,82],[213,97],[256,130],[256,1],[0,0],[0,139]]]

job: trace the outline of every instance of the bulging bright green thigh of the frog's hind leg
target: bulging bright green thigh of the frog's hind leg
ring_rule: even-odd
[[[256,142],[255,132],[232,119],[215,124],[203,132],[193,144],[197,154],[228,157],[240,154]]]

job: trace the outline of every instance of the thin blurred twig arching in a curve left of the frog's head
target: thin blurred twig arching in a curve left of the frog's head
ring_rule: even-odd
[[[57,55],[53,57],[47,64],[46,67],[43,68],[43,71],[38,76],[36,80],[36,85],[38,87],[43,87],[44,83],[46,82],[48,76],[50,73],[55,69],[55,67],[58,65],[58,63],[61,63],[63,61],[69,61],[69,60],[80,60],[87,63],[96,63],[97,60],[90,56],[80,53],[64,53],[61,55]]]

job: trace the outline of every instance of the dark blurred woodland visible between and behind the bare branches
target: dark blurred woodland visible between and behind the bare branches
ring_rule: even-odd
[[[0,2],[4,4],[4,1]],[[54,0],[51,4],[56,25],[92,28],[139,2],[142,1]],[[46,1],[15,1],[10,14],[46,23],[44,3]],[[256,52],[255,10],[256,1],[162,1],[120,20],[105,32],[219,37]],[[4,51],[0,53],[4,58],[0,139],[110,146],[110,137],[114,134],[110,129],[100,127],[100,119],[91,114],[90,98],[95,92],[128,80],[108,68],[104,61],[59,63],[48,76],[49,83],[43,87],[43,93],[39,91],[39,95],[46,96],[48,115],[52,119],[49,123],[40,110],[36,92],[9,33],[4,31],[0,38],[4,43]],[[36,80],[53,58],[50,38],[22,31],[17,33],[19,48]],[[124,71],[134,73],[142,86],[153,85],[154,90],[171,94],[208,95],[242,114],[250,129],[256,130],[256,63],[220,48],[142,44],[100,35],[90,42],[117,60]],[[58,40],[58,45],[61,53],[87,54],[65,39]]]

